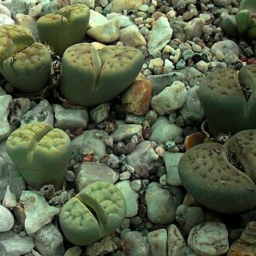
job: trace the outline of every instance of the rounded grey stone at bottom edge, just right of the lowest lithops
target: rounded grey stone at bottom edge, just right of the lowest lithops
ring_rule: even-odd
[[[138,231],[127,232],[121,237],[120,242],[126,256],[149,255],[149,245]]]

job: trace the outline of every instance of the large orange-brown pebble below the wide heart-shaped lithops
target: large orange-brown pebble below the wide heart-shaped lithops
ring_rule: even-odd
[[[151,93],[152,85],[149,80],[133,81],[121,96],[123,108],[136,116],[146,114],[150,108]]]

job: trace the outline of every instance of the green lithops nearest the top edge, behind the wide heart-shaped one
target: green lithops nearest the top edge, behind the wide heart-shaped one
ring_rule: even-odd
[[[37,20],[41,43],[49,43],[60,56],[67,47],[80,43],[85,36],[90,17],[87,5],[67,5],[57,13],[50,13]]]

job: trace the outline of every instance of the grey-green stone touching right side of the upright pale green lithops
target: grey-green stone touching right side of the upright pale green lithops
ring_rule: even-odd
[[[93,154],[99,157],[106,154],[106,144],[102,138],[96,137],[95,133],[97,132],[98,130],[96,129],[85,130],[80,136],[71,140],[71,148],[73,150],[72,157],[74,159],[79,155],[83,155],[82,151],[85,149],[92,151]]]

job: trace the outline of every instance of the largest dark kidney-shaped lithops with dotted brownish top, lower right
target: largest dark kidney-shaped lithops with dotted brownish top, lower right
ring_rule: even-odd
[[[256,130],[236,133],[226,144],[199,144],[178,163],[182,185],[203,206],[240,213],[256,206]]]

